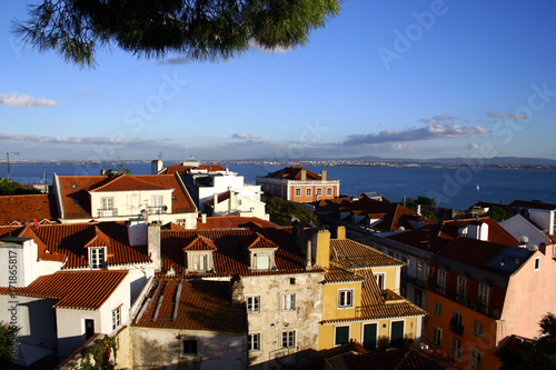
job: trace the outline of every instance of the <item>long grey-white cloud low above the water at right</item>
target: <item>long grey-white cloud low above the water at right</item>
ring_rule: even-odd
[[[480,126],[461,127],[454,123],[435,124],[419,129],[385,130],[373,133],[350,134],[344,146],[376,144],[383,142],[418,141],[444,138],[464,138],[473,134],[489,133]]]

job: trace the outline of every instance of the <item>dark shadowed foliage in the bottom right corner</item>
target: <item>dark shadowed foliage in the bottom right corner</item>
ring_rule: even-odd
[[[504,350],[500,370],[556,369],[556,317],[547,313],[539,322],[542,336],[527,354]]]

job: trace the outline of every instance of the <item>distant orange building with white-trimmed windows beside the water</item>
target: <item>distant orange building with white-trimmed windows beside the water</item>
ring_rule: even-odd
[[[265,177],[257,177],[256,181],[270,194],[300,203],[334,199],[340,193],[340,181],[328,179],[326,170],[317,174],[301,166],[291,166]]]

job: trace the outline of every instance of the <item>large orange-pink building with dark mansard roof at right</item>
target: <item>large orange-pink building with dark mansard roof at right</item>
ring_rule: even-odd
[[[498,369],[512,334],[538,336],[556,309],[556,262],[538,250],[457,238],[435,260],[427,292],[427,339],[464,369]],[[549,250],[552,251],[552,250]]]

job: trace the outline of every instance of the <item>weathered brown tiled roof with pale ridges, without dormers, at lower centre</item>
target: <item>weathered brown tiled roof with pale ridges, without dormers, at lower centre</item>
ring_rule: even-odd
[[[247,332],[247,310],[227,281],[156,278],[147,298],[133,327]]]

